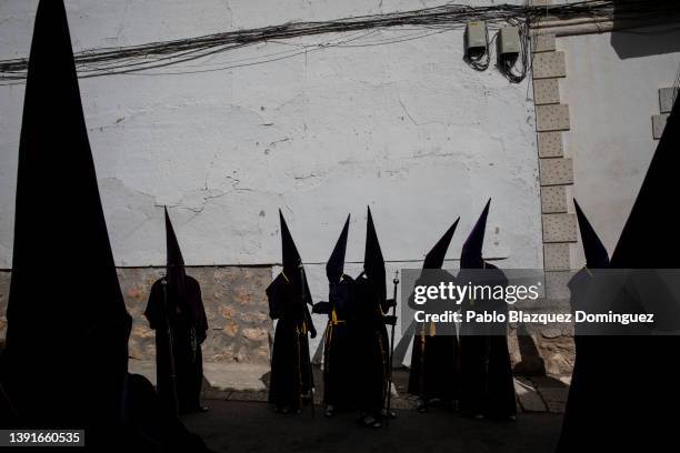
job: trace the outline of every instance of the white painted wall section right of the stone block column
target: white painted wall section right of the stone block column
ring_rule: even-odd
[[[564,142],[574,163],[572,192],[610,254],[657,148],[651,117],[659,113],[658,90],[671,87],[679,70],[680,31],[667,30],[557,41],[567,58],[560,90],[571,117]],[[580,244],[571,261],[583,265]]]

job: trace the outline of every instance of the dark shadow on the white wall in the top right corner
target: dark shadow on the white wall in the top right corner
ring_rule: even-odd
[[[630,13],[623,12],[624,3],[627,0],[614,2],[614,29],[624,27],[629,20]],[[619,58],[624,60],[680,52],[680,11],[678,7],[669,7],[669,9],[673,9],[674,13],[669,12],[668,17],[652,19],[659,23],[654,27],[613,31],[610,42]],[[674,38],[670,39],[669,36]]]

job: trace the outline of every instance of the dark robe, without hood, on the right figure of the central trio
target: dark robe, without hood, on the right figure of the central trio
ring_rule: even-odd
[[[389,391],[390,343],[384,325],[389,308],[364,274],[354,281],[352,303],[354,310],[349,329],[358,373],[354,389],[357,407],[378,417]]]

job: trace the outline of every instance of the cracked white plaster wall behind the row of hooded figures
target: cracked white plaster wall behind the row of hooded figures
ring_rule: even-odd
[[[81,50],[441,1],[66,3],[73,47]],[[0,58],[28,54],[36,6],[24,0],[0,3]],[[309,264],[308,274],[313,296],[321,300],[328,288],[322,263],[347,213],[352,214],[347,260],[356,263],[363,256],[370,204],[391,261],[391,282],[398,266],[420,266],[460,215],[449,252],[457,259],[492,197],[486,255],[503,259],[501,265],[509,268],[540,268],[538,159],[528,82],[510,84],[494,69],[470,69],[462,61],[462,30],[439,31],[387,46],[366,44],[423,31],[304,37],[182,68],[209,72],[82,79],[117,264],[164,263],[163,204],[170,207],[188,264],[276,264],[281,208],[303,260],[320,263]],[[307,51],[291,46],[341,41],[340,47]],[[291,50],[299,54],[216,70]],[[0,87],[3,269],[11,266],[22,102],[23,85]],[[68,200],[54,188],[46,202]],[[356,274],[360,265],[348,269]],[[316,321],[321,331],[323,320]]]

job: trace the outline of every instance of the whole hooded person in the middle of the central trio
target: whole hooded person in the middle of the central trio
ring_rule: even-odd
[[[344,274],[349,221],[348,215],[326,264],[328,302],[318,302],[313,308],[314,313],[328,315],[323,335],[323,403],[327,416],[332,416],[337,409],[351,407],[353,401],[356,363],[348,319],[351,319],[354,281]]]

